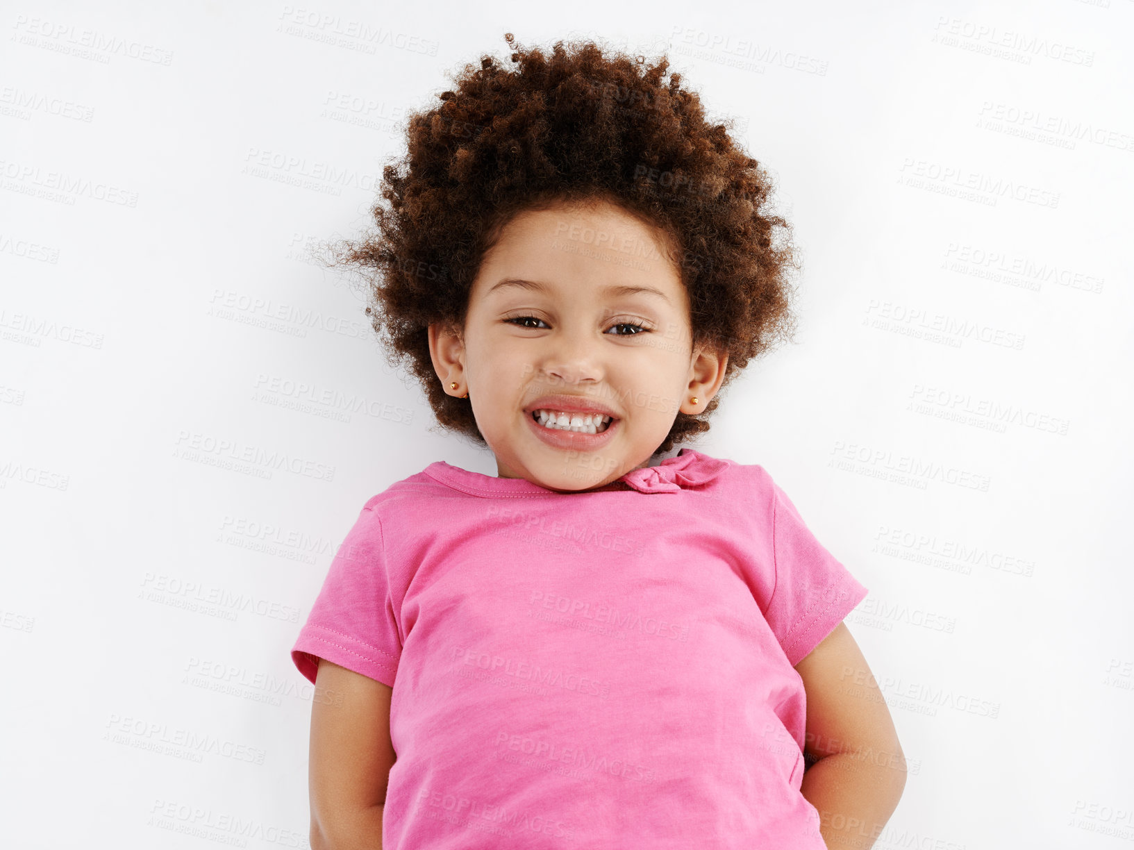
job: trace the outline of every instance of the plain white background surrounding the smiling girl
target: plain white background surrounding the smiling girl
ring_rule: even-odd
[[[434,460],[496,473],[307,250],[506,31],[668,51],[777,179],[799,345],[692,445],[870,588],[909,763],[875,847],[1134,838],[1134,2],[492,6],[0,8],[6,844],[306,845],[335,549]]]

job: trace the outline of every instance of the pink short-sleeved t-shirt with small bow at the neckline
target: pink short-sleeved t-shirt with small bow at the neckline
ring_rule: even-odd
[[[826,850],[793,666],[866,593],[755,464],[437,461],[363,507],[291,658],[393,688],[387,850]]]

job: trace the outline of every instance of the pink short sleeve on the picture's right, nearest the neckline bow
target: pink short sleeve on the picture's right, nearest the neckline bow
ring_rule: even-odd
[[[868,589],[815,539],[775,482],[772,494],[776,587],[764,618],[795,666],[866,597]]]

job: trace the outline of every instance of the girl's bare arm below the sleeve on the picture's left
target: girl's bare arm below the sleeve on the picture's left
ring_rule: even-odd
[[[312,850],[381,850],[390,767],[390,695],[380,681],[319,660],[311,706]]]

